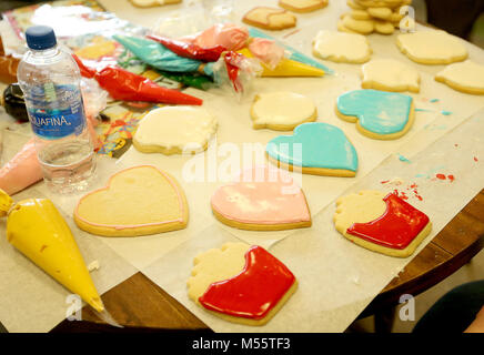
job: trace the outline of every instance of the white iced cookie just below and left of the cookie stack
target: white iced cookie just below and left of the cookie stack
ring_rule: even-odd
[[[313,40],[313,54],[334,62],[364,63],[372,50],[362,34],[323,30]]]

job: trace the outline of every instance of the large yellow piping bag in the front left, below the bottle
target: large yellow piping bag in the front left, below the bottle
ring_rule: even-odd
[[[104,311],[72,232],[50,200],[14,203],[0,189],[0,216],[6,215],[10,244],[95,311]]]

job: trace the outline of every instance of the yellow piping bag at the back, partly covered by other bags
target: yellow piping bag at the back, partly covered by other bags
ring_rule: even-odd
[[[245,55],[246,58],[253,58],[254,55],[248,48],[243,48],[239,53]],[[270,69],[263,62],[261,62],[263,71],[261,77],[323,77],[324,70],[311,67],[298,62],[292,59],[284,58],[274,69]]]

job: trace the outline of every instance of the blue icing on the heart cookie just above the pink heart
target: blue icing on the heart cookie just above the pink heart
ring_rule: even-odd
[[[295,128],[293,135],[274,138],[268,143],[266,152],[296,166],[357,170],[353,144],[337,126],[322,122],[303,123]]]

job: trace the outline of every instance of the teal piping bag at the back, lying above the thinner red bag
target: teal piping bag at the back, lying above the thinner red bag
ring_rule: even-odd
[[[177,55],[163,44],[152,40],[129,36],[113,36],[113,38],[144,63],[160,70],[193,72],[203,64],[201,61]]]

